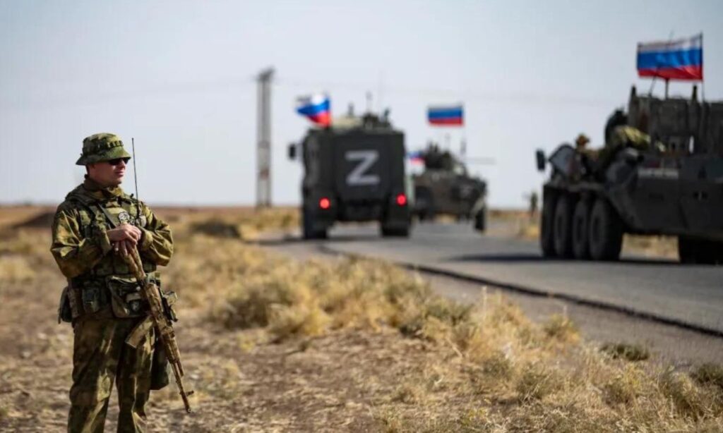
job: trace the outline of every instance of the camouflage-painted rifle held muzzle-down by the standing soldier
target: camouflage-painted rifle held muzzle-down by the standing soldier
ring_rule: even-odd
[[[168,363],[171,364],[171,368],[174,370],[174,376],[176,377],[176,386],[179,389],[183,404],[186,408],[187,413],[191,413],[191,406],[188,402],[189,395],[193,394],[193,391],[186,391],[183,386],[183,366],[181,365],[181,352],[179,351],[179,345],[176,342],[176,333],[174,327],[171,324],[171,312],[168,312],[168,305],[164,305],[165,301],[161,295],[161,289],[146,278],[146,274],[143,271],[143,263],[138,255],[136,248],[131,248],[129,253],[123,256],[131,272],[141,284],[142,296],[150,305],[150,318],[153,320],[153,326],[158,332],[158,337],[161,338],[161,344],[163,349],[166,351],[166,357]]]

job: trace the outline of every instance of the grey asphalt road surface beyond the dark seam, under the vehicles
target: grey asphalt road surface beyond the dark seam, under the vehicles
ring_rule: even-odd
[[[535,242],[481,236],[467,224],[418,224],[409,239],[383,239],[373,226],[336,227],[319,244],[723,333],[723,266],[633,256],[617,263],[545,260]]]

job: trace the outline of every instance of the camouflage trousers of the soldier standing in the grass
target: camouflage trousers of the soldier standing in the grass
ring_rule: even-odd
[[[103,432],[113,382],[118,390],[118,432],[143,432],[150,396],[153,330],[134,349],[125,339],[142,319],[118,319],[109,311],[107,315],[99,313],[73,324],[68,432]]]

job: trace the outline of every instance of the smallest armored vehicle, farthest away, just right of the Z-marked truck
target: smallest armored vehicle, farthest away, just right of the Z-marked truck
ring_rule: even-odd
[[[414,214],[422,221],[438,214],[474,219],[476,229],[484,230],[487,183],[469,175],[460,159],[435,144],[429,144],[420,155],[424,171],[412,176]]]

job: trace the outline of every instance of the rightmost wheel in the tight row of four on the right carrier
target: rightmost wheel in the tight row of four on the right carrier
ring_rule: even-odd
[[[590,256],[593,260],[617,260],[623,247],[623,222],[610,204],[598,198],[592,206],[588,227]]]

